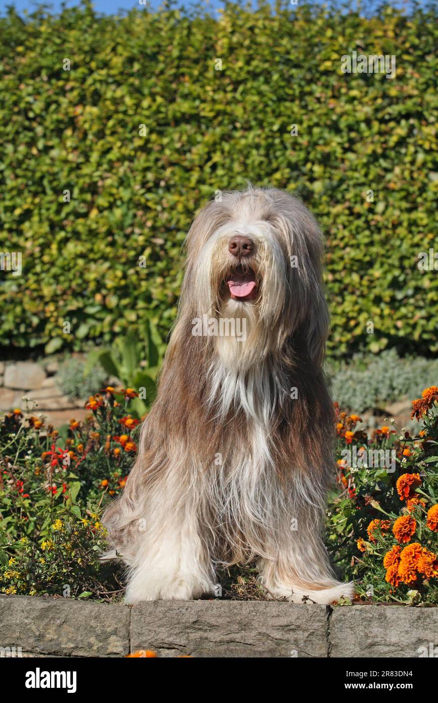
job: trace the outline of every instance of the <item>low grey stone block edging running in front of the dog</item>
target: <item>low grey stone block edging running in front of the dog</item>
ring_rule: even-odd
[[[437,645],[438,608],[231,600],[130,608],[0,596],[0,652],[20,647],[23,657],[124,657],[151,649],[159,657],[392,659],[430,656]]]

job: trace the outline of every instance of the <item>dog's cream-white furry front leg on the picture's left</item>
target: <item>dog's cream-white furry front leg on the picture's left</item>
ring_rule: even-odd
[[[126,601],[191,600],[214,591],[214,569],[198,520],[188,505],[157,505],[139,520]]]

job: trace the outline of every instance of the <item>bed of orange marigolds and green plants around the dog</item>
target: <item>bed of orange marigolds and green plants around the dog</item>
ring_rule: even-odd
[[[136,453],[135,398],[133,389],[107,387],[89,398],[83,422],[59,430],[32,406],[1,419],[1,593],[122,597],[120,563],[99,562],[100,518]],[[327,543],[359,602],[438,603],[437,400],[432,386],[413,401],[423,421],[414,436],[389,422],[368,437],[359,415],[337,408]],[[256,577],[251,566],[226,574],[225,597],[262,600]]]

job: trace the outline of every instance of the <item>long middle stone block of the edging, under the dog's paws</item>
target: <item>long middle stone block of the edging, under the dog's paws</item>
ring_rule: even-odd
[[[151,649],[160,657],[327,657],[326,630],[325,605],[156,600],[131,611],[131,652]]]

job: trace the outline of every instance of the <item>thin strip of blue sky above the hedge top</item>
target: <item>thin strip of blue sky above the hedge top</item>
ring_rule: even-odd
[[[32,11],[32,9],[34,9],[35,6],[38,4],[34,0],[0,0],[0,3],[2,11],[1,13],[4,12],[4,8],[6,7],[6,5],[12,4],[15,6],[15,8],[20,14],[25,9]],[[151,8],[158,8],[162,4],[162,0],[148,0],[148,3]],[[205,5],[206,8],[212,8],[212,11],[224,6],[224,3],[221,0],[201,0],[201,3],[202,5]],[[61,7],[60,0],[47,0],[46,4],[51,5],[55,11],[59,11]],[[65,5],[67,7],[73,7],[78,4],[79,0],[65,0]],[[190,0],[177,0],[176,4],[178,6],[188,6],[191,4],[191,2]],[[350,5],[354,4],[354,2],[350,3]],[[409,6],[410,3],[406,0],[390,0],[388,4],[397,7],[406,7]],[[423,5],[425,3],[423,1],[420,1],[419,4]],[[131,10],[131,8],[139,7],[139,0],[94,0],[93,5],[95,10],[99,13],[114,14],[117,13],[117,11],[121,8],[124,10]],[[377,5],[378,2],[373,0],[363,0],[363,2],[361,3],[362,8],[367,11],[367,13],[369,12],[371,6]]]

